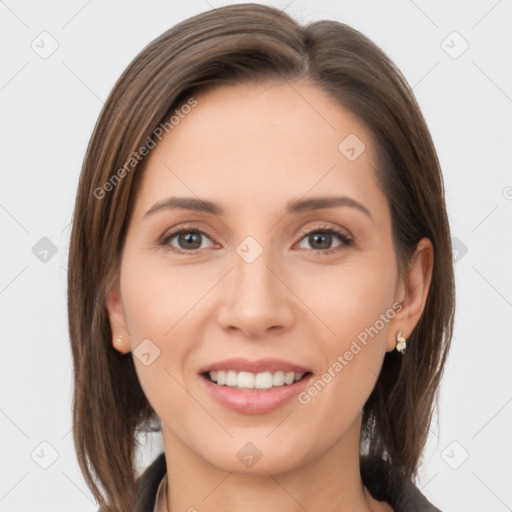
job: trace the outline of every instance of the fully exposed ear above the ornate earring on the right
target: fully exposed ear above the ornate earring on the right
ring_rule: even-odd
[[[422,238],[408,266],[406,275],[400,278],[395,301],[402,305],[402,309],[393,318],[386,351],[391,352],[396,347],[396,333],[402,331],[402,336],[408,338],[419,322],[428,290],[432,281],[434,266],[434,248],[428,238]]]

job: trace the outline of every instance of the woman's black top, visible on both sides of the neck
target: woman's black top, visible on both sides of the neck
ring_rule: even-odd
[[[360,465],[363,484],[376,500],[389,503],[394,512],[441,512],[391,464],[362,456]],[[153,512],[158,486],[166,472],[165,453],[162,452],[138,480],[133,512]]]

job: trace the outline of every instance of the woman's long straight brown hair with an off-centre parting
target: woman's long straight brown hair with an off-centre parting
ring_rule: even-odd
[[[267,79],[310,83],[369,128],[402,274],[421,238],[433,244],[432,281],[407,355],[386,354],[363,410],[370,454],[389,460],[409,479],[416,476],[455,308],[443,180],[425,120],[394,63],[357,30],[327,20],[302,26],[276,8],[237,4],[182,21],[140,52],[110,93],[83,162],[68,271],[73,435],[101,511],[130,509],[137,434],[155,418],[132,357],[112,347],[105,303],[144,166],[133,155],[148,141],[158,142],[155,129],[193,94]]]

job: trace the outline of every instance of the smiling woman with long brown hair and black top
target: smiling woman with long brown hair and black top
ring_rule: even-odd
[[[414,479],[453,328],[442,176],[361,33],[243,4],[151,42],[92,135],[68,288],[101,511],[438,510]]]

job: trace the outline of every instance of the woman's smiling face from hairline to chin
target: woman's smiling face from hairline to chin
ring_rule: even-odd
[[[417,319],[370,133],[305,84],[195,99],[146,157],[108,301],[116,347],[171,455],[277,472],[359,450],[385,352]]]

